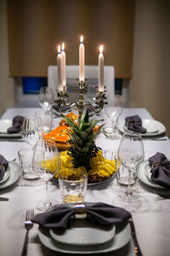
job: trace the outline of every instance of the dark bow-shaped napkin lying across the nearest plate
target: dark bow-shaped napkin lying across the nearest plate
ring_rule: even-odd
[[[86,207],[87,218],[94,224],[118,224],[131,218],[130,212],[121,207],[112,207],[104,203],[94,203]],[[75,218],[75,208],[58,206],[50,212],[39,213],[32,219],[34,223],[46,228],[66,229],[71,218]]]

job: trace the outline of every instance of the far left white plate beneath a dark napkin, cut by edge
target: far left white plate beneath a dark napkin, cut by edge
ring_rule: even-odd
[[[21,137],[21,132],[9,133],[7,129],[12,126],[12,119],[0,120],[0,137]]]

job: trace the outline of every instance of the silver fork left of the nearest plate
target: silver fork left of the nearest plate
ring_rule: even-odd
[[[24,246],[22,249],[22,256],[26,256],[27,254],[27,247],[28,247],[28,241],[29,241],[29,230],[33,227],[33,223],[31,219],[34,218],[34,210],[27,210],[26,211],[26,221],[25,221],[25,228],[26,228],[26,237],[24,241]]]

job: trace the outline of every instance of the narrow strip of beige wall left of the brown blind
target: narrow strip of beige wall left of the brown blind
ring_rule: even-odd
[[[14,106],[14,79],[8,76],[7,1],[0,0],[0,114]]]

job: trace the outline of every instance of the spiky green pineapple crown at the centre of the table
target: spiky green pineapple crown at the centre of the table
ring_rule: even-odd
[[[65,116],[65,121],[71,126],[68,131],[71,147],[68,149],[68,154],[72,158],[74,166],[84,166],[87,171],[90,170],[91,158],[97,156],[100,148],[96,147],[94,138],[100,133],[103,125],[99,126],[99,130],[94,132],[94,126],[99,120],[88,117],[88,110],[82,113],[81,119],[76,122],[71,117]]]

